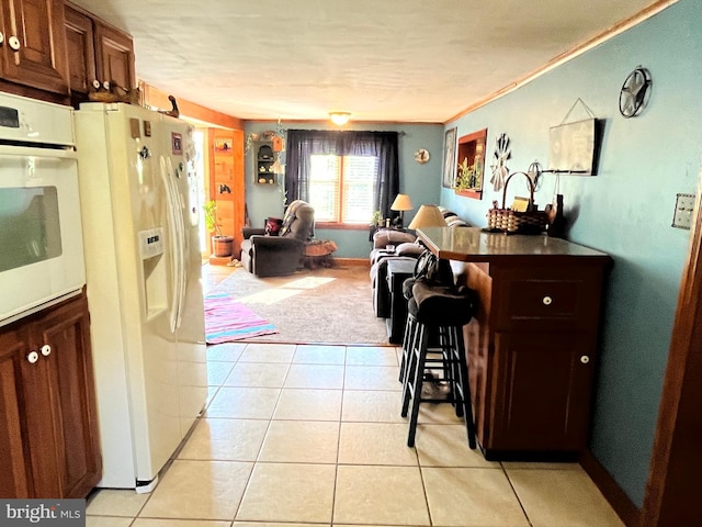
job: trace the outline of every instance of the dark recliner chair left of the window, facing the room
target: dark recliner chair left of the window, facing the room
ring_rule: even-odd
[[[285,210],[279,236],[267,236],[265,228],[244,227],[241,265],[257,277],[294,273],[301,265],[305,244],[315,235],[315,210],[295,200]]]

